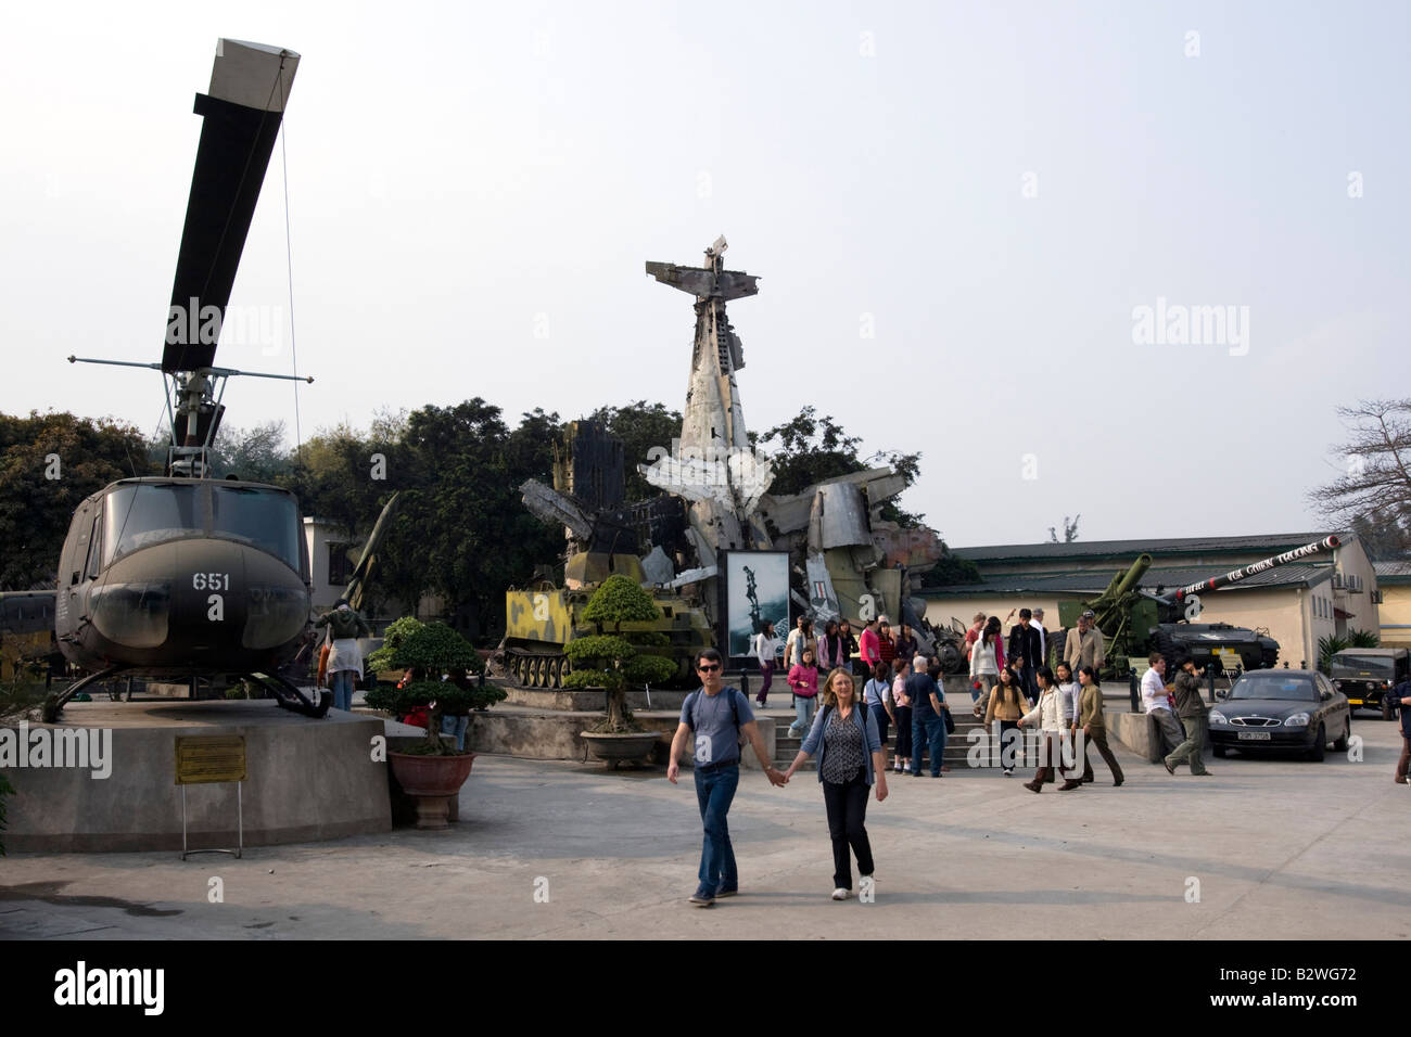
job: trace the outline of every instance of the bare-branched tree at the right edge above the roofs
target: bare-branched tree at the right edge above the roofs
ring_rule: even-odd
[[[1343,473],[1308,501],[1329,522],[1381,528],[1383,552],[1411,547],[1411,399],[1363,399],[1339,406],[1350,439],[1335,447]]]

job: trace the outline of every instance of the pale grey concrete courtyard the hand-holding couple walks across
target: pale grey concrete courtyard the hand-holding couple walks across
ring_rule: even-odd
[[[835,903],[814,773],[742,773],[741,895],[698,910],[690,772],[480,756],[446,832],[247,849],[0,858],[3,938],[1260,938],[1411,935],[1411,786],[1398,725],[1360,714],[1360,762],[1209,759],[1211,777],[1118,748],[1079,792],[1031,769],[889,775],[868,807],[876,896]],[[219,880],[219,882],[217,882]],[[856,886],[856,879],[854,880]],[[216,893],[220,893],[220,900]]]

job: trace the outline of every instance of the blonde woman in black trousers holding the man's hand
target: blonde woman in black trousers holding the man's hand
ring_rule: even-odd
[[[818,753],[818,782],[828,811],[828,837],[832,839],[832,899],[852,895],[852,854],[864,889],[872,883],[872,844],[865,827],[868,790],[875,784],[878,803],[886,799],[886,760],[876,718],[858,703],[852,674],[838,667],[828,674],[823,690],[823,710],[785,772],[793,777],[799,766]]]

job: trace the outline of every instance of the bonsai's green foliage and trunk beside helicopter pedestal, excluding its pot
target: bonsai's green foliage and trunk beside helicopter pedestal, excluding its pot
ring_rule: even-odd
[[[415,617],[402,617],[387,628],[382,648],[368,656],[374,670],[411,670],[405,687],[378,684],[367,693],[367,704],[374,710],[408,712],[418,705],[428,707],[426,741],[408,749],[413,755],[456,756],[453,742],[440,736],[442,714],[447,707],[468,705],[481,710],[507,696],[494,684],[460,687],[440,676],[450,670],[478,674],[485,669],[474,646],[443,622],[423,624]]]

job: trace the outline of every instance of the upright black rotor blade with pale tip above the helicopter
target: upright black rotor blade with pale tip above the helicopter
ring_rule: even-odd
[[[195,371],[216,357],[220,325],[250,222],[299,66],[293,51],[222,40],[210,93],[196,95],[200,144],[176,255],[162,371]]]

